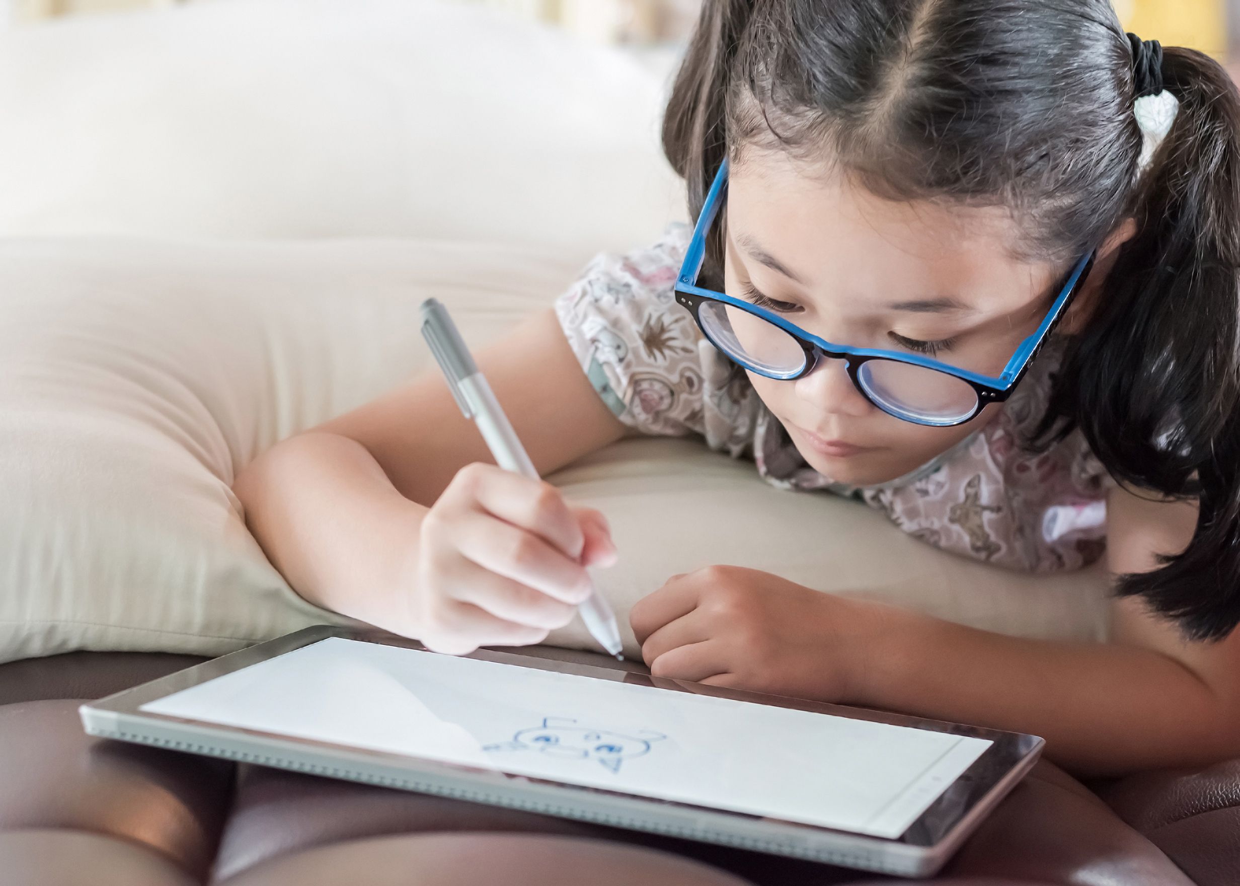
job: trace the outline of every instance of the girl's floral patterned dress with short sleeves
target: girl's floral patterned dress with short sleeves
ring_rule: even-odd
[[[934,462],[878,486],[846,486],[811,468],[743,372],[733,371],[676,304],[691,228],[670,226],[646,249],[603,254],[556,302],[583,371],[616,417],[646,434],[701,436],[753,457],[789,490],[859,499],[923,541],[1011,570],[1087,566],[1105,550],[1112,481],[1080,432],[1049,450],[1022,445],[1045,409],[1061,339],[1048,341],[999,414]]]

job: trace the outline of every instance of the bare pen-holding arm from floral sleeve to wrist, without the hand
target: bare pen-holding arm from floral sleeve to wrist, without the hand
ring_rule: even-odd
[[[624,433],[578,366],[553,311],[477,354],[541,474]],[[409,599],[419,531],[461,468],[492,463],[438,370],[247,465],[233,491],[272,563],[301,597],[418,637]]]

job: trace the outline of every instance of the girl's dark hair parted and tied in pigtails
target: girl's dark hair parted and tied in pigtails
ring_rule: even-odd
[[[663,122],[699,212],[725,156],[831,163],[901,200],[1007,207],[1070,263],[1126,218],[1042,428],[1076,428],[1121,483],[1198,500],[1188,548],[1117,592],[1193,639],[1240,623],[1240,94],[1166,50],[1180,102],[1142,174],[1133,47],[1109,0],[704,0]],[[718,236],[708,267],[722,257]]]

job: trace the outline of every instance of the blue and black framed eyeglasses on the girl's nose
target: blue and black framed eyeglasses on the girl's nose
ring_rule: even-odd
[[[727,182],[728,161],[724,160],[707,194],[676,279],[676,300],[693,314],[698,328],[715,347],[750,372],[792,381],[812,372],[823,357],[843,360],[848,377],[866,400],[914,424],[944,428],[963,424],[990,403],[1011,397],[1094,264],[1091,249],[1069,273],[1038,329],[1021,342],[994,377],[916,354],[836,345],[765,308],[698,285],[706,238],[719,213]]]

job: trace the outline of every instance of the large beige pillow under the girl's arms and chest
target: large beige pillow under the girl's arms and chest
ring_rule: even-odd
[[[529,247],[0,241],[0,661],[73,649],[221,654],[315,623],[229,489],[264,448],[432,366],[435,295],[479,345],[577,267]],[[626,441],[554,478],[609,516],[627,611],[670,575],[751,566],[1030,637],[1106,632],[1097,572],[954,557],[830,494],[785,493],[691,439]],[[590,647],[579,624],[553,642]]]

